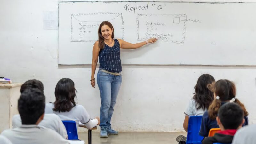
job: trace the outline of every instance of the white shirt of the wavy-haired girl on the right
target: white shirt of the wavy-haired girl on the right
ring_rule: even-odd
[[[189,101],[188,107],[184,112],[187,116],[203,116],[204,112],[207,110],[206,108],[200,108],[197,110],[198,105],[196,105],[196,101],[191,99]]]

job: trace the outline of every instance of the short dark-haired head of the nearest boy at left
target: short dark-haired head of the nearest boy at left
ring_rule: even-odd
[[[37,88],[25,89],[18,100],[22,124],[38,124],[44,117],[45,97]]]

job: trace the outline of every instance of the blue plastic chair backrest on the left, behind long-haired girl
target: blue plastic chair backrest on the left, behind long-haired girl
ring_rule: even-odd
[[[62,121],[62,123],[66,127],[67,134],[68,134],[68,140],[78,140],[76,122],[75,121]]]

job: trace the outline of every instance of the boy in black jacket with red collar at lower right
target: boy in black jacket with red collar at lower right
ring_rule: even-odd
[[[213,137],[204,138],[202,144],[231,143],[236,131],[244,123],[244,111],[236,103],[226,103],[220,107],[216,121],[221,131]]]

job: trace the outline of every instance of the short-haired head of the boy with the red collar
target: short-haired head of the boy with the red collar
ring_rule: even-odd
[[[216,120],[221,130],[238,129],[244,123],[244,111],[236,103],[226,103],[220,107]]]

